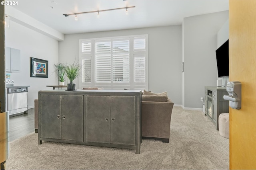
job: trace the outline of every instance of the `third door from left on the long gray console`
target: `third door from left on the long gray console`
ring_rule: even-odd
[[[86,142],[110,143],[110,96],[86,96]]]

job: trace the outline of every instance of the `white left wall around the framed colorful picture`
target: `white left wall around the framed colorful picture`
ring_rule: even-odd
[[[51,90],[46,85],[58,84],[56,74],[53,73],[54,63],[58,62],[58,41],[14,21],[10,21],[5,36],[6,47],[20,49],[21,55],[21,71],[11,72],[10,80],[14,80],[14,86],[30,86],[28,108],[33,108],[39,90]],[[30,57],[48,60],[48,78],[30,77]]]

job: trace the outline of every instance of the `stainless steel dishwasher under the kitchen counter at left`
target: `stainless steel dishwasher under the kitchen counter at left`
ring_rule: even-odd
[[[28,113],[28,88],[8,88],[8,112],[10,117]]]

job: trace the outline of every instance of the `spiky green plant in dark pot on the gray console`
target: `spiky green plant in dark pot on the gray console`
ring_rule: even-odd
[[[73,80],[80,76],[81,66],[78,63],[65,64],[64,71],[70,83],[67,84],[67,90],[75,90],[76,84],[73,83]]]

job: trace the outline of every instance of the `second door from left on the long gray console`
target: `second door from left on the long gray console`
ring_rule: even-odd
[[[62,139],[83,141],[84,96],[62,95],[61,109]]]

